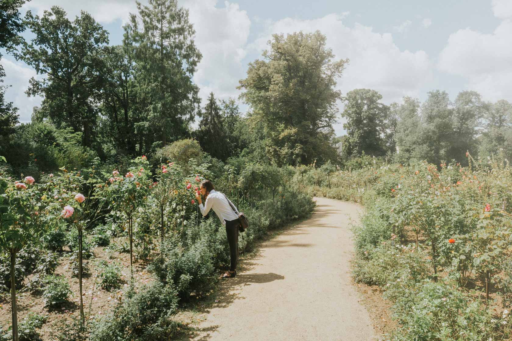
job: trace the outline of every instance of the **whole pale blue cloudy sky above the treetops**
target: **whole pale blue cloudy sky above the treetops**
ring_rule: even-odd
[[[147,3],[147,0],[142,1]],[[425,100],[434,89],[452,100],[463,90],[476,90],[483,100],[512,102],[512,0],[178,0],[189,9],[195,42],[203,59],[194,75],[202,105],[216,98],[237,98],[247,64],[262,58],[273,33],[321,31],[336,60],[350,60],[336,88],[346,94],[371,88],[382,102],[404,96]],[[32,0],[20,10],[42,14],[60,6],[73,19],[87,11],[110,32],[110,44],[122,42],[122,25],[136,13],[132,0]],[[30,38],[30,32],[24,33]],[[24,93],[35,71],[12,56],[0,60],[12,85],[6,100],[29,122],[40,97]],[[336,135],[345,133],[339,103]],[[242,111],[247,105],[240,103]]]

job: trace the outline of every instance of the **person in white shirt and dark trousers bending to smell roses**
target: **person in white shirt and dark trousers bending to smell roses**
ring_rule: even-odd
[[[203,203],[201,202],[201,196],[196,195],[197,202],[199,203],[199,209],[203,217],[213,209],[219,217],[223,225],[226,225],[227,241],[229,243],[229,251],[231,257],[231,266],[229,271],[226,271],[220,278],[233,278],[237,275],[237,262],[238,262],[238,227],[240,221],[238,220],[238,210],[234,204],[221,192],[215,190],[214,184],[210,180],[204,180],[200,186],[201,194],[206,198]],[[231,208],[231,205],[237,211],[235,213]]]

